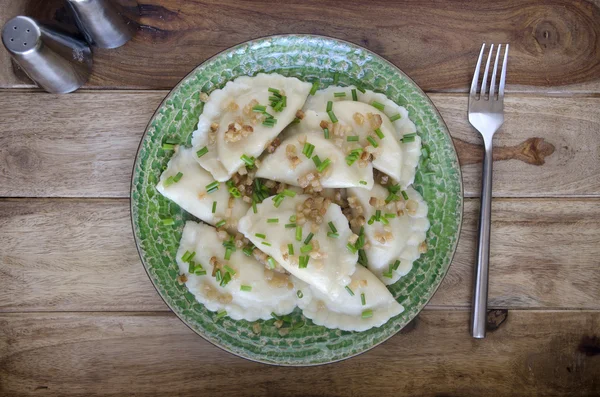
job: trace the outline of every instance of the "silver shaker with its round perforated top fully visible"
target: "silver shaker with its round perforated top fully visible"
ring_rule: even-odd
[[[18,16],[2,29],[2,43],[44,90],[63,94],[81,87],[92,69],[92,51],[87,43]]]

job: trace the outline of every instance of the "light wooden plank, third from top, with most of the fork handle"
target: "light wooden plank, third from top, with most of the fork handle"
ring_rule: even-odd
[[[600,309],[600,200],[496,199],[490,307]],[[432,307],[469,307],[477,200]],[[0,200],[0,311],[167,310],[139,261],[127,200]]]

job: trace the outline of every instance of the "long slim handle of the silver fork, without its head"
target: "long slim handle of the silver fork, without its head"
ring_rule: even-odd
[[[492,215],[492,140],[485,142],[483,175],[481,181],[481,210],[479,213],[479,241],[477,267],[473,286],[471,335],[485,338],[487,320],[488,273],[490,260],[490,226]]]

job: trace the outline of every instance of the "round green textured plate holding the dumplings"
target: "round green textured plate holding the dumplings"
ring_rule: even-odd
[[[175,253],[183,225],[192,217],[155,189],[170,152],[167,138],[190,141],[203,104],[200,92],[210,93],[229,80],[259,72],[277,72],[321,87],[339,78],[340,84],[360,84],[382,92],[405,106],[430,157],[419,165],[415,188],[429,205],[429,250],[412,271],[390,286],[405,311],[379,328],[345,332],[314,325],[296,309],[294,323],[304,326],[281,336],[274,320],[254,323],[216,319],[185,286],[177,283]],[[434,172],[432,174],[432,172]],[[131,217],[140,257],[167,305],[191,329],[209,342],[241,357],[278,365],[330,363],[367,351],[390,338],[411,321],[442,282],[458,242],[462,220],[462,179],[456,151],[439,113],[421,89],[398,68],[357,45],[311,35],[271,36],[249,41],[212,57],[187,75],[165,98],[140,144],[131,183]],[[162,217],[175,219],[163,226]],[[143,280],[140,280],[143,282]]]

